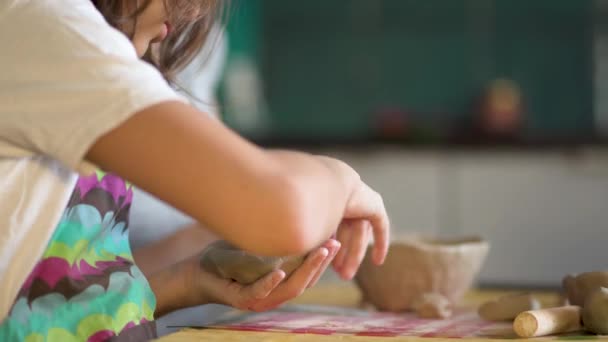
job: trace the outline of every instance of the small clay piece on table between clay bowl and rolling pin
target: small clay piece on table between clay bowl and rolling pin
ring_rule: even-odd
[[[487,321],[512,321],[524,311],[540,309],[540,302],[529,293],[502,296],[479,307],[479,317]]]

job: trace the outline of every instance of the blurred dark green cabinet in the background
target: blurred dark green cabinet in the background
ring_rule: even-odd
[[[362,139],[386,108],[445,129],[509,78],[529,136],[576,138],[593,134],[592,11],[590,0],[242,0],[229,32],[232,53],[257,66],[276,137]]]

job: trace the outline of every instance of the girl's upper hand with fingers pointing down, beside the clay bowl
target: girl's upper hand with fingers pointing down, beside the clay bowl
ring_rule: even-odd
[[[389,219],[382,197],[365,183],[349,199],[344,220],[338,227],[336,238],[342,243],[333,267],[346,280],[353,278],[369,242],[374,238],[373,261],[382,264],[388,252]]]

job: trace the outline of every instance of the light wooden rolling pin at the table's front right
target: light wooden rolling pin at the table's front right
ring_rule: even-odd
[[[519,337],[538,337],[582,330],[581,307],[570,305],[520,313],[513,322]]]

